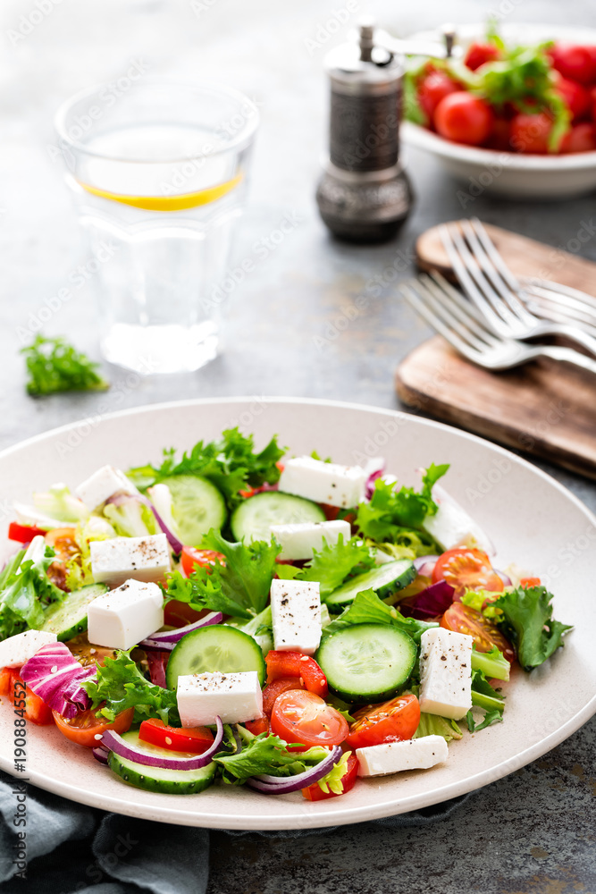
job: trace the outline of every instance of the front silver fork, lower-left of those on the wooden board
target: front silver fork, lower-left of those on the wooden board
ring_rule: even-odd
[[[510,369],[548,357],[596,374],[596,361],[573,348],[525,344],[491,333],[483,315],[439,273],[422,274],[403,283],[399,290],[427,323],[479,367]]]

